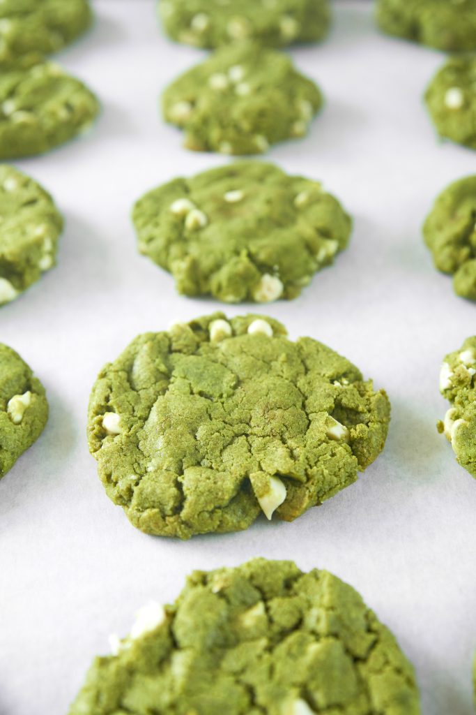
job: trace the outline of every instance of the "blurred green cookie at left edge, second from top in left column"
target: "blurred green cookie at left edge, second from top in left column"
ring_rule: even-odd
[[[0,159],[43,154],[86,132],[98,101],[53,62],[0,72]]]

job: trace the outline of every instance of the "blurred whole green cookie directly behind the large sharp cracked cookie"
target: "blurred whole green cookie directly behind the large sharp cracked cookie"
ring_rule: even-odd
[[[141,253],[178,292],[224,302],[293,298],[333,262],[352,222],[318,182],[243,161],[175,179],[138,200]]]

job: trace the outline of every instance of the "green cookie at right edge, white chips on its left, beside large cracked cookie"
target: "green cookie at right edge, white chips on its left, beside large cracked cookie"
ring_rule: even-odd
[[[455,452],[457,462],[476,478],[476,337],[451,352],[440,370],[440,393],[450,401],[437,425]]]

